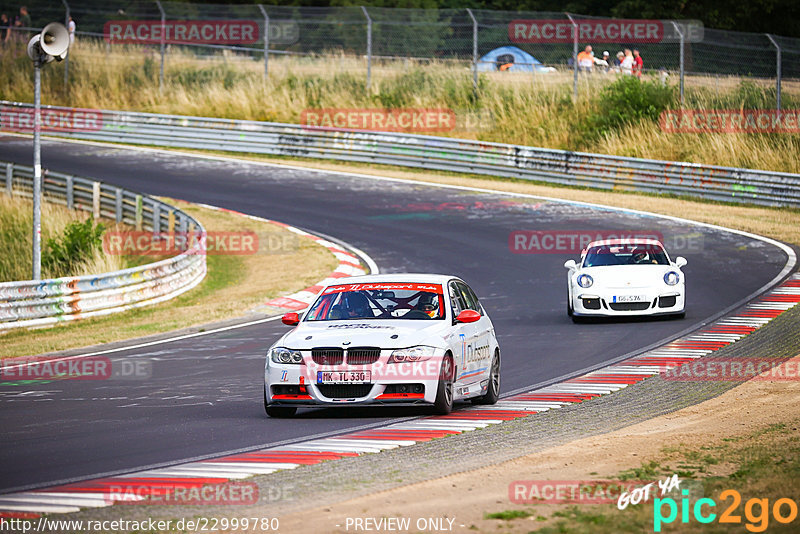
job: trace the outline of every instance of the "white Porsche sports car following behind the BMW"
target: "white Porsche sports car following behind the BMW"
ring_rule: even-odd
[[[567,313],[586,316],[679,315],[685,313],[686,287],[681,267],[655,239],[607,239],[589,243],[580,263],[564,264]]]

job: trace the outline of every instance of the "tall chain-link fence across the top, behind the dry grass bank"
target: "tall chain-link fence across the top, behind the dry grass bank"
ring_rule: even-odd
[[[20,14],[21,2],[25,2],[29,18]],[[68,23],[72,17],[79,39],[98,40],[109,48],[133,43],[145,45],[150,53],[158,50],[162,84],[164,63],[173,50],[197,56],[224,51],[249,56],[263,61],[265,76],[269,75],[270,58],[350,56],[358,60],[350,65],[363,69],[367,87],[373,66],[392,60],[461,63],[471,69],[476,86],[480,71],[509,69],[533,75],[562,72],[570,75],[577,95],[579,71],[624,71],[624,64],[615,64],[618,53],[637,48],[644,60],[642,71],[665,77],[678,75],[681,94],[686,76],[749,77],[774,81],[779,107],[782,80],[800,78],[800,39],[714,30],[696,21],[620,21],[558,12],[477,9],[212,5],[159,0],[60,2],[0,0],[0,13],[7,14],[10,27],[6,30],[0,22],[0,35],[21,38],[48,22]],[[655,29],[652,34],[639,35],[637,23],[648,23],[647,32]],[[581,54],[587,45],[594,47],[595,55],[584,68],[581,62],[586,56]],[[493,53],[509,46],[515,49]],[[609,52],[605,61],[608,67],[601,59],[603,50]]]

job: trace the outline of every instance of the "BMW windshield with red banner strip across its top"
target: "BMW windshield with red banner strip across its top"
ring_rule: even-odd
[[[351,319],[444,319],[440,284],[345,284],[326,288],[306,321]]]

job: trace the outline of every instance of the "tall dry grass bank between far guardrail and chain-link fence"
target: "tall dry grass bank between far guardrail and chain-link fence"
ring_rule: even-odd
[[[30,60],[21,45],[0,57],[0,94],[31,102]],[[531,76],[483,73],[473,91],[467,64],[378,62],[365,90],[363,58],[274,57],[263,64],[233,54],[215,59],[171,50],[159,87],[152,48],[79,42],[70,51],[70,86],[61,68],[43,71],[43,99],[52,105],[137,110],[299,123],[304,110],[446,108],[456,127],[443,135],[601,154],[800,172],[800,135],[662,130],[658,116],[681,107],[676,77],[662,86],[617,85],[617,76],[583,76],[572,99],[572,73]],[[615,85],[612,85],[614,83]],[[641,90],[640,90],[641,89]],[[687,109],[774,109],[775,89],[763,80],[689,77]],[[786,81],[785,109],[800,106],[800,84]]]

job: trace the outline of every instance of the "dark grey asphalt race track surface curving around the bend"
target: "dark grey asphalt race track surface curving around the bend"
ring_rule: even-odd
[[[0,159],[30,165],[31,141],[0,136]],[[674,336],[759,289],[787,259],[762,241],[689,223],[336,173],[51,140],[43,166],[332,235],[382,272],[461,276],[495,324],[505,392]],[[572,324],[563,263],[576,256],[512,253],[514,230],[661,232],[673,257],[689,260],[686,318]],[[270,322],[111,355],[152,364],[147,380],[0,384],[0,492],[420,415],[361,408],[267,418],[264,355],[286,328]]]

